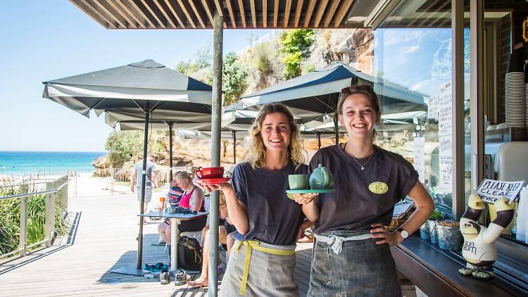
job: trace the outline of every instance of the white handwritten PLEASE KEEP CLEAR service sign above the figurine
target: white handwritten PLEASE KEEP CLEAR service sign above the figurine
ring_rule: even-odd
[[[494,179],[484,179],[477,190],[482,201],[495,203],[500,198],[507,198],[508,204],[511,204],[517,198],[517,194],[522,189],[524,180],[518,182],[503,182]]]

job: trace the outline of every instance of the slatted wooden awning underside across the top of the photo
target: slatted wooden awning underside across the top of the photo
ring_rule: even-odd
[[[365,0],[70,0],[107,29],[346,28],[353,5]],[[377,2],[375,0],[367,0]]]

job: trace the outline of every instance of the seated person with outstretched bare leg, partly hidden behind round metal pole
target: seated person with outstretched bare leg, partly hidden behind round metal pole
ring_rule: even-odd
[[[230,220],[227,214],[227,205],[225,203],[225,197],[220,192],[220,222],[218,226],[218,241],[220,244],[227,246],[227,257],[231,253],[231,248],[234,244],[233,233],[235,228],[230,224]],[[192,282],[187,282],[190,286],[208,286],[208,265],[209,265],[209,225],[203,228],[203,261],[201,266],[200,277]]]

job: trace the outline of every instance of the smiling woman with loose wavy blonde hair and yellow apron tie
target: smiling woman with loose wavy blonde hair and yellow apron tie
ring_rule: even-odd
[[[315,195],[296,201],[286,195],[288,175],[308,169],[299,130],[290,111],[275,103],[263,106],[249,132],[248,160],[234,168],[231,184],[205,186],[223,191],[237,228],[220,295],[298,296],[296,237],[305,215],[310,221],[319,216]]]

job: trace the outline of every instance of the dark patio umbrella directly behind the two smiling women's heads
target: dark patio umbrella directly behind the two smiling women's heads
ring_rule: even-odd
[[[272,87],[241,97],[244,108],[258,108],[266,103],[279,102],[288,106],[294,115],[311,120],[329,120],[334,113],[334,131],[337,143],[337,102],[339,92],[353,84],[379,84],[378,95],[384,103],[410,103],[425,109],[424,94],[410,91],[391,82],[379,80],[341,62],[287,80]]]

